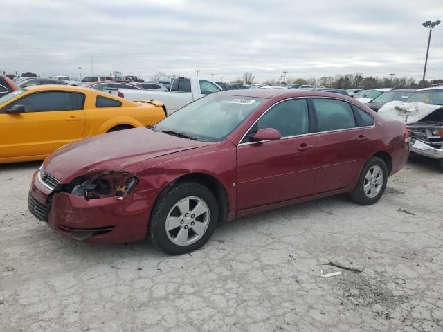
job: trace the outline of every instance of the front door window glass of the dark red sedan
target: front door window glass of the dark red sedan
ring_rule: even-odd
[[[309,115],[307,100],[293,99],[280,102],[269,109],[257,121],[245,136],[244,142],[250,142],[251,136],[260,129],[273,128],[278,130],[282,138],[309,133]]]

